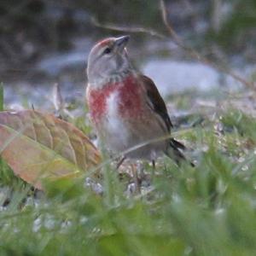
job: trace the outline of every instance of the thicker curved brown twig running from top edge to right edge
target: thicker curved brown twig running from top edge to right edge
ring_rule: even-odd
[[[179,46],[181,49],[188,52],[189,55],[191,55],[193,58],[197,59],[198,61],[201,61],[202,63],[206,64],[207,66],[213,67],[214,69],[217,69],[221,73],[226,73],[226,74],[230,75],[230,77],[232,77],[233,79],[236,79],[241,84],[244,84],[245,86],[247,86],[250,89],[253,89],[253,90],[256,89],[253,82],[249,82],[246,79],[241,78],[241,76],[239,76],[237,73],[234,73],[232,70],[230,70],[230,68],[224,67],[222,65],[219,65],[219,63],[217,64],[217,63],[214,63],[214,62],[208,60],[206,57],[202,56],[195,49],[185,45],[183,43],[183,39],[177,35],[177,32],[175,32],[175,30],[173,29],[170,20],[168,20],[168,18],[167,18],[168,14],[167,14],[167,9],[166,9],[166,3],[164,0],[160,0],[160,10],[161,10],[161,14],[162,14],[162,20],[163,20],[168,32],[170,33],[170,36],[172,37],[173,42],[175,44],[177,44],[177,46]]]

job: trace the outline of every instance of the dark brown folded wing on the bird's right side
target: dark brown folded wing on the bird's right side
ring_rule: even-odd
[[[143,86],[147,92],[149,107],[153,108],[154,112],[160,115],[166,124],[167,131],[170,132],[172,128],[172,122],[167,113],[166,103],[160,96],[160,93],[157,90],[154,82],[144,75],[140,75],[139,79],[143,81]]]

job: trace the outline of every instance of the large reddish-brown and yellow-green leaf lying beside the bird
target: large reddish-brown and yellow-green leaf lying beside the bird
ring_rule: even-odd
[[[77,177],[99,164],[82,131],[49,113],[0,113],[0,154],[15,174],[42,189],[42,178]]]

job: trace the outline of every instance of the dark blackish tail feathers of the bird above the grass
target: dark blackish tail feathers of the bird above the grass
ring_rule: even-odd
[[[166,155],[172,158],[172,160],[175,160],[178,166],[183,160],[187,161],[186,157],[183,155],[181,151],[186,149],[183,143],[179,143],[174,138],[171,138],[169,145],[170,147],[168,147]],[[190,165],[195,166],[192,162],[190,162]]]

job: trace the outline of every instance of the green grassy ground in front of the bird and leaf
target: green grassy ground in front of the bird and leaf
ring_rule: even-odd
[[[140,195],[108,165],[102,195],[84,180],[34,195],[2,161],[0,255],[255,255],[256,119],[226,109],[177,138],[195,168],[164,158]]]

